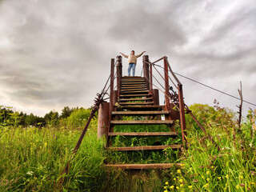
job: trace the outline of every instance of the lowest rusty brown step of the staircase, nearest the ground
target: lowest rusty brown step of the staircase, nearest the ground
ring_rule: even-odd
[[[145,169],[169,169],[172,166],[182,167],[182,163],[106,164],[104,166],[114,167],[122,170],[145,170]]]

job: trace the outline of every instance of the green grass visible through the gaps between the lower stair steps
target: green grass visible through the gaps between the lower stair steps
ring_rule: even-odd
[[[123,120],[139,120],[139,117],[123,116]],[[167,125],[116,125],[114,132],[169,132]],[[179,135],[180,136],[180,135]],[[181,138],[170,136],[116,136],[111,138],[113,147],[123,146],[162,146],[180,144]],[[167,148],[166,150],[143,150],[143,151],[110,151],[106,162],[110,164],[123,163],[168,163],[178,161],[178,150]]]

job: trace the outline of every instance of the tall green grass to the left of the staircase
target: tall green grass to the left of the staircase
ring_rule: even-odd
[[[1,191],[100,190],[105,154],[103,140],[97,139],[97,123],[86,133],[72,160],[64,186],[60,174],[70,159],[80,130],[2,128],[0,140]]]

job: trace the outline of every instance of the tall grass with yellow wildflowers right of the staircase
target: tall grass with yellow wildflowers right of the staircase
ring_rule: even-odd
[[[221,150],[190,124],[190,146],[181,159],[184,166],[172,174],[164,191],[256,191],[256,142],[250,121],[239,130],[230,111],[217,107],[217,115],[210,118],[202,115],[206,112],[201,109],[197,115]]]

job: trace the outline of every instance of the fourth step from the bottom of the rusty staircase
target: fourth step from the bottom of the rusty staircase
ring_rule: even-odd
[[[156,124],[173,124],[174,120],[134,120],[134,121],[110,121],[112,125],[156,125]]]

